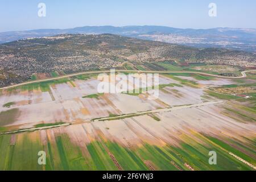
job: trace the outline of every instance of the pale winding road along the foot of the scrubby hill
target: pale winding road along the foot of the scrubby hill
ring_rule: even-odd
[[[130,73],[196,73],[196,74],[200,74],[200,75],[206,75],[206,76],[214,76],[214,77],[219,77],[219,78],[245,78],[246,77],[246,73],[248,72],[254,72],[255,70],[250,70],[250,71],[243,71],[241,72],[242,76],[239,77],[228,77],[228,76],[220,76],[220,75],[212,75],[209,73],[201,73],[201,72],[168,72],[168,71],[135,71],[135,70],[125,70],[125,69],[121,69],[121,70],[115,70],[115,72],[130,72]],[[64,75],[64,76],[60,76],[60,77],[54,77],[54,78],[46,78],[44,80],[35,80],[35,81],[27,81],[27,82],[23,82],[21,84],[15,84],[15,85],[11,85],[11,86],[5,86],[3,88],[0,88],[0,90],[6,90],[6,89],[10,89],[10,88],[15,88],[16,86],[22,86],[22,85],[27,85],[27,84],[33,84],[33,83],[37,83],[37,82],[44,82],[44,81],[51,81],[51,80],[59,80],[61,78],[68,78],[68,77],[72,77],[72,76],[77,76],[77,75],[85,75],[85,74],[93,74],[93,73],[110,73],[110,71],[91,71],[91,72],[82,72],[82,73],[74,73],[71,75]]]

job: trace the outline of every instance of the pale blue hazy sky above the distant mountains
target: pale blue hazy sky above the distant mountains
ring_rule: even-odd
[[[46,4],[39,18],[38,4]],[[216,3],[217,17],[208,15]],[[255,0],[0,0],[0,32],[81,26],[256,28]]]

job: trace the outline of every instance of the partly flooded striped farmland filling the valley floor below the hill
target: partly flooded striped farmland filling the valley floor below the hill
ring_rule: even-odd
[[[190,67],[180,64],[125,66]],[[239,80],[160,74],[154,100],[148,97],[155,88],[143,92],[138,79],[127,86],[138,93],[98,93],[96,75],[1,90],[0,170],[256,169],[253,73]],[[38,164],[39,151],[46,152],[46,165]],[[216,165],[209,164],[210,151],[217,153]]]

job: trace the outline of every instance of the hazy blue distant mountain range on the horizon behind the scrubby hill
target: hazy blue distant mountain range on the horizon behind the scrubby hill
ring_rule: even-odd
[[[85,26],[63,30],[0,32],[0,43],[57,34],[116,34],[198,48],[222,47],[256,53],[256,29],[253,28],[181,29],[164,26]]]

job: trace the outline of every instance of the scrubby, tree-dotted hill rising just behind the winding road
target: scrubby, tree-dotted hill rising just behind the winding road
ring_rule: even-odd
[[[119,35],[62,34],[0,45],[0,85],[31,78],[34,73],[74,73],[122,67],[126,61],[146,63],[185,60],[255,67],[254,53],[221,48],[193,48]]]

